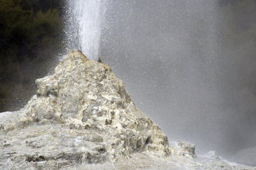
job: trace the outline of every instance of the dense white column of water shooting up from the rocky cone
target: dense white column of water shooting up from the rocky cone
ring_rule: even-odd
[[[93,60],[98,59],[100,32],[102,29],[102,20],[106,11],[106,0],[76,0],[68,1],[69,16],[72,18],[70,23],[73,25],[74,37],[72,41],[76,43],[76,48]],[[74,45],[73,45],[74,46]]]

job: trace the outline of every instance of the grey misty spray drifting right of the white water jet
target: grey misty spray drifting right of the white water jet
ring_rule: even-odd
[[[236,156],[256,147],[256,1],[106,5],[99,56],[136,106],[170,141],[256,166]]]

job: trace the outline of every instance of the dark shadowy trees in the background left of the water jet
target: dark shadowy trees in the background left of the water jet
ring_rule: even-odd
[[[60,0],[0,0],[0,112],[15,110],[15,100],[24,97],[19,90],[29,90],[38,78],[38,63],[51,58],[42,53],[52,45],[60,48],[64,5]]]

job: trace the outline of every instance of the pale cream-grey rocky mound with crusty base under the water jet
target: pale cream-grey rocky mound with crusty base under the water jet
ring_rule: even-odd
[[[0,169],[253,169],[169,145],[111,69],[81,52],[36,85],[22,110],[0,113]]]

